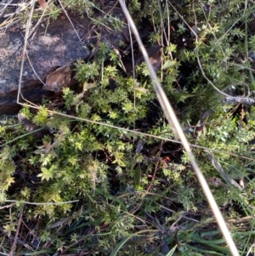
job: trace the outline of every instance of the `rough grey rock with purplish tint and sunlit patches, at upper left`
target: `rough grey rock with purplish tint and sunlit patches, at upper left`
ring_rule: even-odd
[[[91,54],[84,41],[77,37],[77,34],[80,38],[87,35],[88,18],[70,17],[77,25],[77,33],[70,21],[60,16],[52,23],[42,22],[29,38],[21,83],[21,91],[26,100],[40,102],[42,96],[49,94],[42,88],[49,73],[77,59],[85,60]],[[24,37],[25,30],[21,25],[0,31],[0,115],[11,115],[20,110],[16,98]]]

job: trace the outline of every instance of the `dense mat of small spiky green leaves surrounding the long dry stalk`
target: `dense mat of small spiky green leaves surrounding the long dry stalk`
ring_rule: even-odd
[[[89,14],[95,27],[117,31],[124,26],[95,1],[61,3],[66,10]],[[229,227],[245,254],[254,239],[254,221],[244,220],[253,216],[255,204],[254,107],[244,109],[245,119],[233,105],[224,105],[224,95],[212,84],[234,96],[253,89],[247,56],[255,39],[245,29],[252,5],[244,9],[235,0],[188,0],[171,6],[153,0],[129,1],[128,8],[138,26],[146,19],[153,27],[144,42],[164,45],[161,84],[225,218],[244,222],[241,226],[229,221]],[[60,10],[50,3],[46,15],[55,19]],[[194,22],[200,28],[198,37],[190,33]],[[14,235],[19,206],[26,201],[41,203],[24,204],[22,227],[35,230],[33,239],[43,253],[80,253],[85,244],[91,255],[160,255],[167,243],[168,251],[177,245],[178,255],[229,255],[183,148],[122,130],[174,139],[148,69],[144,63],[135,68],[135,79],[126,76],[116,48],[99,42],[94,60],[77,60],[82,92],[63,88],[62,105],[54,110],[54,100],[45,100],[38,111],[22,109],[31,122],[44,128],[41,137],[27,135],[15,119],[3,122],[0,202],[19,200],[12,211],[2,209],[8,236]],[[204,117],[208,110],[211,114]],[[244,190],[224,179],[204,148],[217,150],[212,152],[215,159],[231,179],[244,181]],[[44,248],[49,242],[50,248]]]

